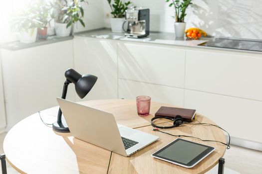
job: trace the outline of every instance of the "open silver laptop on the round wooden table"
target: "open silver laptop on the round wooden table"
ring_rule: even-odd
[[[116,123],[113,114],[56,98],[71,134],[80,140],[130,156],[159,137]]]

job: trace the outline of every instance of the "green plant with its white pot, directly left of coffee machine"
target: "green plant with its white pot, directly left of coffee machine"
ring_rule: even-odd
[[[112,0],[107,0],[111,8],[111,14],[113,18],[110,19],[112,32],[123,32],[123,23],[125,21],[125,11],[127,6],[131,4],[130,1],[123,2],[122,0],[114,0],[114,3],[111,4]]]

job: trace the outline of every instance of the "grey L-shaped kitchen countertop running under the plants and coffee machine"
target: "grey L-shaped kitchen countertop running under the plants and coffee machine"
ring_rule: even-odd
[[[3,43],[0,45],[0,48],[7,50],[21,50],[25,48],[41,46],[45,44],[51,44],[55,42],[61,42],[66,40],[71,40],[74,37],[90,37],[90,38],[100,38],[100,39],[109,39],[116,41],[131,41],[131,42],[139,42],[139,43],[152,43],[152,44],[163,44],[163,45],[173,45],[173,46],[185,46],[191,48],[202,48],[208,50],[224,50],[224,51],[235,51],[235,52],[246,52],[246,53],[256,53],[262,54],[259,51],[249,51],[249,50],[239,50],[239,49],[230,49],[230,48],[217,48],[217,47],[208,47],[208,46],[199,46],[199,44],[203,44],[212,40],[212,37],[201,38],[200,40],[190,40],[187,38],[176,38],[175,33],[163,33],[163,32],[150,32],[148,37],[136,39],[136,38],[127,38],[124,36],[124,33],[114,33],[110,28],[101,28],[94,29],[89,31],[83,31],[79,33],[74,33],[74,36],[49,36],[47,40],[37,40],[34,43],[20,43],[19,41]]]

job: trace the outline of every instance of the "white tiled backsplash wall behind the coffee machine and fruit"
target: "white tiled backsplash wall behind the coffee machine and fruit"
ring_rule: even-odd
[[[150,8],[150,30],[174,32],[174,8],[166,0],[132,0]],[[212,36],[262,40],[262,0],[193,0],[185,21]],[[110,27],[110,8],[104,0],[105,26]]]

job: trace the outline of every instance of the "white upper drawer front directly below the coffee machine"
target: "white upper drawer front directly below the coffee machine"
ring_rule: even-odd
[[[184,87],[185,50],[156,44],[118,44],[119,78]]]

